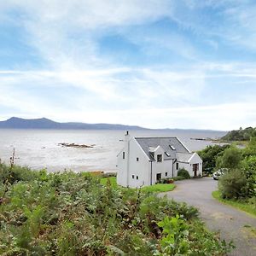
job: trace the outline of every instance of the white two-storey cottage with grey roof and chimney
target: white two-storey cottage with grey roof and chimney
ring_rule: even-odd
[[[177,137],[130,137],[125,134],[125,148],[117,155],[117,183],[137,188],[156,183],[161,178],[176,177],[186,169],[191,177],[202,174],[202,160]]]

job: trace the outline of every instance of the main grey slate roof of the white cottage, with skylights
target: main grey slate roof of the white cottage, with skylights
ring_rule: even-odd
[[[149,148],[157,148],[158,146],[163,148],[168,154],[164,155],[164,160],[176,159],[177,153],[190,155],[189,150],[183,146],[183,143],[181,143],[177,137],[135,137],[135,139],[141,148],[143,148],[145,154],[148,155],[148,158],[153,161],[154,158],[152,154],[149,154]]]

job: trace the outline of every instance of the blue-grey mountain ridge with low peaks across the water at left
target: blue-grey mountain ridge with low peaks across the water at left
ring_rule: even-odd
[[[0,121],[0,129],[69,129],[69,130],[145,130],[133,125],[58,123],[50,119],[20,119],[12,117]]]

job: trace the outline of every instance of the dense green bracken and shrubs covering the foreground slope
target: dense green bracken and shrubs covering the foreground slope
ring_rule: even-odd
[[[194,207],[88,173],[0,164],[1,255],[224,255]]]

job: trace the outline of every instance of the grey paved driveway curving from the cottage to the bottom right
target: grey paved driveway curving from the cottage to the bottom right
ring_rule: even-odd
[[[256,229],[256,218],[214,200],[212,191],[217,190],[217,181],[203,177],[178,181],[176,184],[176,189],[162,195],[199,208],[209,230],[219,231],[221,239],[234,241],[236,249],[230,255],[256,256],[256,234],[250,228]]]

